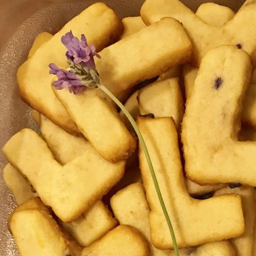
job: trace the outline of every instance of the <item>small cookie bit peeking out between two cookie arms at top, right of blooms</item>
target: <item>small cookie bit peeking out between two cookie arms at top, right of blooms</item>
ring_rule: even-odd
[[[122,23],[123,23],[123,33],[120,39],[123,39],[124,37],[127,37],[129,35],[132,35],[146,27],[146,25],[144,24],[140,16],[125,17],[122,19]]]

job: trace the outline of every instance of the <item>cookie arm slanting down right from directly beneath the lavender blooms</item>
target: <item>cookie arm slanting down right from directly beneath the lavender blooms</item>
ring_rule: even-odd
[[[97,89],[88,89],[80,95],[70,93],[68,89],[53,90],[81,133],[103,158],[117,162],[132,155],[136,140],[117,110],[97,94]]]

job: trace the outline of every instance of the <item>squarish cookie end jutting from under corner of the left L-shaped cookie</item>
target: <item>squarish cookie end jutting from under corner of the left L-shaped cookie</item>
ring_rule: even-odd
[[[99,200],[77,220],[62,222],[61,225],[81,246],[89,246],[114,228],[117,222],[108,207]]]

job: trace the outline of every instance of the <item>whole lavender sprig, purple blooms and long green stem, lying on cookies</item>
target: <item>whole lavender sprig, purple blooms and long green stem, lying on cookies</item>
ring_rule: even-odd
[[[159,202],[161,204],[163,214],[165,216],[166,222],[169,227],[170,235],[172,236],[175,255],[179,256],[179,249],[177,246],[177,241],[175,237],[175,233],[173,230],[172,222],[170,221],[166,206],[163,201],[163,197],[161,194],[161,190],[157,181],[157,177],[155,174],[155,170],[148,153],[145,141],[140,133],[139,127],[129,111],[125,108],[125,106],[106,88],[103,84],[100,83],[99,74],[95,67],[94,56],[100,58],[99,54],[95,52],[95,47],[93,45],[87,44],[87,39],[84,35],[81,35],[81,41],[77,37],[74,37],[72,31],[67,33],[65,36],[62,36],[61,42],[67,48],[67,62],[70,67],[70,71],[58,69],[58,67],[51,63],[50,74],[54,74],[57,76],[58,80],[53,82],[53,86],[57,90],[62,90],[65,88],[69,88],[70,93],[80,94],[86,90],[86,88],[100,88],[103,92],[105,92],[111,99],[119,106],[119,108],[123,111],[126,117],[131,122],[134,130],[139,138],[142,149],[144,151],[148,167],[150,169],[150,173],[156,188],[157,196]]]

